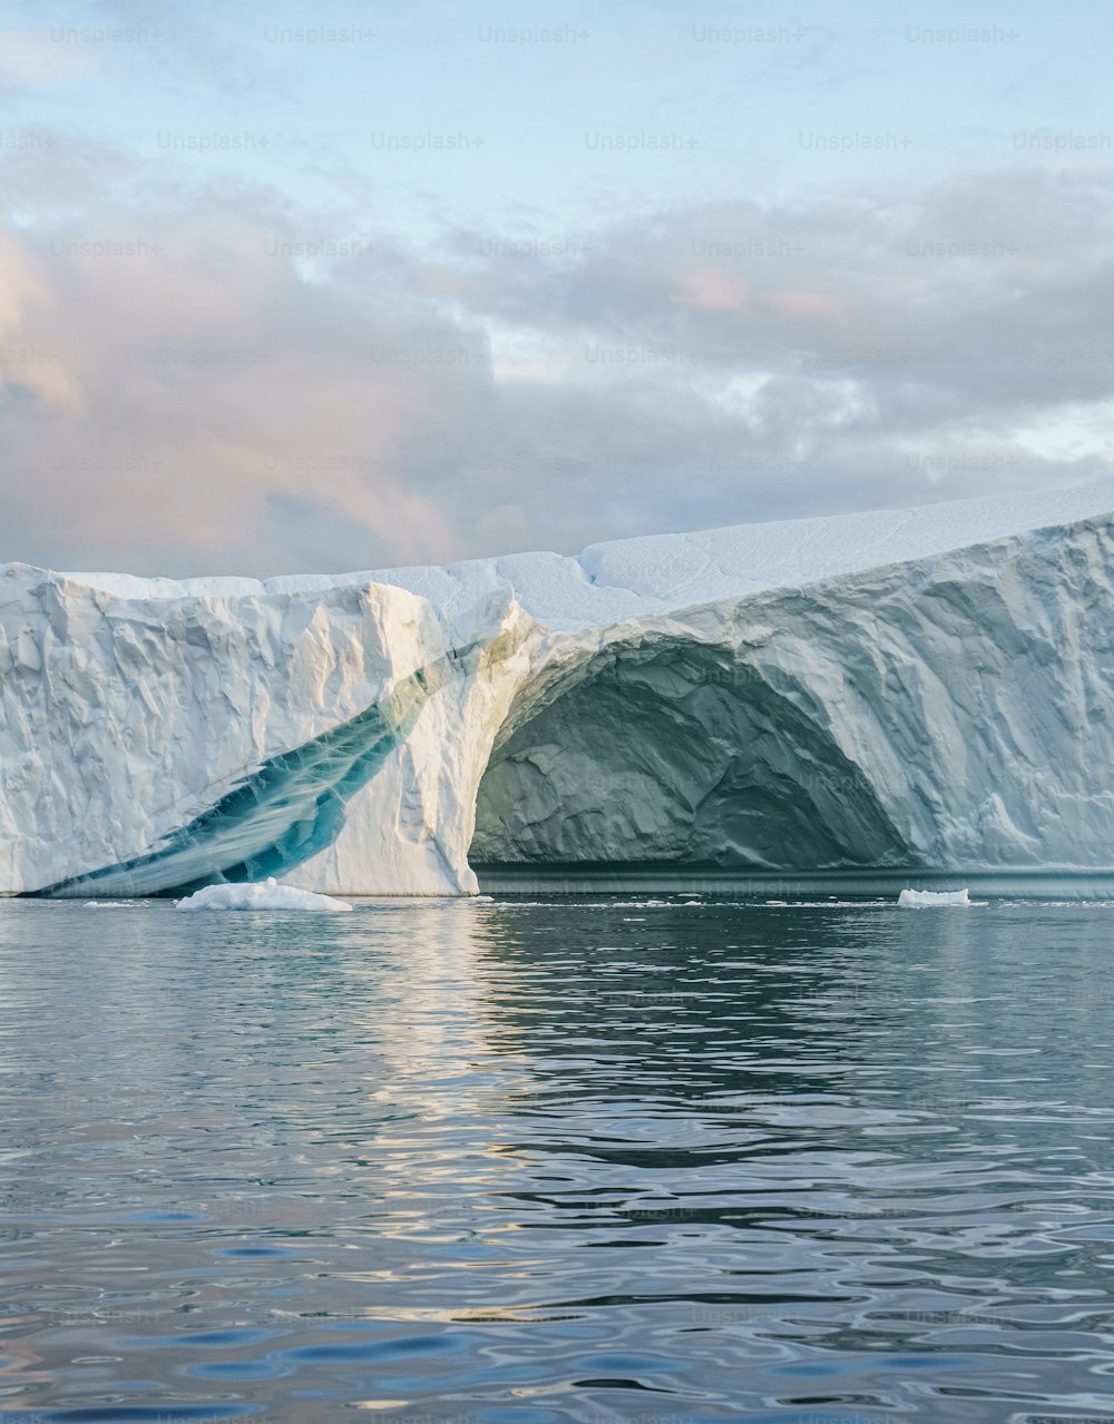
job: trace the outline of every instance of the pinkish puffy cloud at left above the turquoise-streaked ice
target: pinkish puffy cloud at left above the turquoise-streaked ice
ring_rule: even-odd
[[[389,531],[369,533],[376,555],[456,551],[405,480],[437,384],[413,326],[389,298],[301,281],[268,255],[274,238],[219,212],[9,238],[23,273],[0,292],[9,557],[305,567],[338,520]]]

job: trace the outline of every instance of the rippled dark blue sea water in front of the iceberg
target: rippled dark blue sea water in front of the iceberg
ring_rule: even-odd
[[[1114,907],[0,903],[0,1418],[1114,1418]]]

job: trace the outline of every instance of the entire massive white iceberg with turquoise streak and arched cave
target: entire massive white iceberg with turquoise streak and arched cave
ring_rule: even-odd
[[[0,891],[1114,891],[1114,483],[342,577],[0,571]]]

